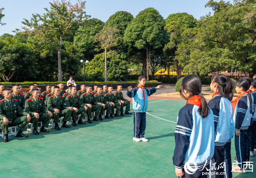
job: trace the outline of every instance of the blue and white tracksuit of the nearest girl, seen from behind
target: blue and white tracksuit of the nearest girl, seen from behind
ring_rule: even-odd
[[[179,110],[177,126],[174,133],[175,149],[173,164],[176,169],[183,170],[182,177],[199,177],[209,164],[214,153],[214,119],[213,111],[210,109],[209,115],[202,118],[198,112],[199,107],[194,104],[187,104]],[[192,163],[197,164],[194,174],[184,171],[185,163],[191,168],[196,168]],[[186,166],[188,168],[188,166]],[[204,168],[204,169],[203,169]],[[203,169],[202,171],[200,171]]]

